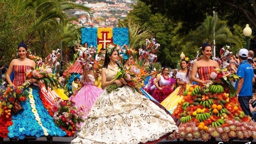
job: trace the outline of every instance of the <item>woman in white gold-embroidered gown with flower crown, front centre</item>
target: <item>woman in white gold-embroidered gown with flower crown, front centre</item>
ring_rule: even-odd
[[[100,94],[71,144],[157,143],[163,136],[178,131],[173,118],[124,79],[113,80],[118,71],[118,51],[108,46],[102,69],[102,87],[116,83],[119,91]],[[121,87],[122,86],[122,87]]]

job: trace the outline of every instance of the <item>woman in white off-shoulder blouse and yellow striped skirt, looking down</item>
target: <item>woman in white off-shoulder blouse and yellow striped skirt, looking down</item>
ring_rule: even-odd
[[[178,102],[183,99],[183,93],[185,90],[191,86],[190,68],[188,67],[189,62],[188,57],[184,57],[180,60],[182,69],[176,74],[177,84],[179,86],[161,102],[161,105],[170,111],[170,113],[173,113]]]

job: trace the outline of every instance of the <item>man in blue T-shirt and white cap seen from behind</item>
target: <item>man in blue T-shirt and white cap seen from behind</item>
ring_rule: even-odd
[[[240,79],[236,82],[236,96],[244,113],[249,115],[249,100],[252,98],[252,83],[255,83],[253,68],[247,61],[248,50],[242,48],[239,50],[238,58],[240,65],[237,69],[237,75]]]

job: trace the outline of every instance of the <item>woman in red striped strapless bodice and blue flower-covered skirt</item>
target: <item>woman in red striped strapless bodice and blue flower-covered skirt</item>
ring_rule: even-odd
[[[18,59],[13,59],[10,62],[6,73],[7,82],[13,86],[21,86],[26,81],[26,70],[35,68],[36,63],[26,57],[27,45],[21,43],[18,45]],[[14,80],[10,80],[10,74],[14,71]],[[28,82],[38,82],[36,79],[28,79]],[[23,110],[17,114],[12,113],[9,119],[0,116],[1,132],[0,137],[13,138],[18,137],[20,140],[25,137],[42,137],[42,136],[58,136],[63,137],[66,132],[61,130],[49,115],[49,112],[44,108],[44,98],[39,97],[38,86],[32,85],[26,89],[28,91],[27,100],[20,102]]]

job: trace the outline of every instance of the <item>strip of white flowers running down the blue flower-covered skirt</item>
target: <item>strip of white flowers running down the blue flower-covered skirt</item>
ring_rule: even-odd
[[[32,95],[32,88],[29,88],[28,97],[29,97],[30,106],[32,108],[32,112],[33,112],[33,114],[34,114],[34,116],[36,118],[36,121],[42,127],[42,129],[44,131],[44,135],[48,136],[49,134],[47,132],[47,129],[42,125],[41,118],[39,117],[39,114],[37,113],[35,100],[34,100],[33,95]]]

